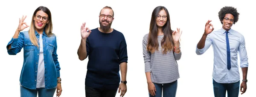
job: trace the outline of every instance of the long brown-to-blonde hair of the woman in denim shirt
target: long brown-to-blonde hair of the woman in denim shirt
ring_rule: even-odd
[[[35,14],[38,12],[38,11],[44,11],[47,15],[48,15],[48,24],[45,25],[44,27],[44,30],[45,30],[45,33],[48,37],[52,36],[53,33],[52,33],[52,14],[50,12],[50,10],[47,8],[47,7],[44,7],[44,6],[39,6],[34,14],[33,14],[33,17],[32,17],[32,21],[31,21],[31,24],[30,24],[30,28],[29,28],[29,39],[30,41],[32,42],[32,44],[34,44],[35,46],[38,47],[38,39],[36,38],[35,36]]]

